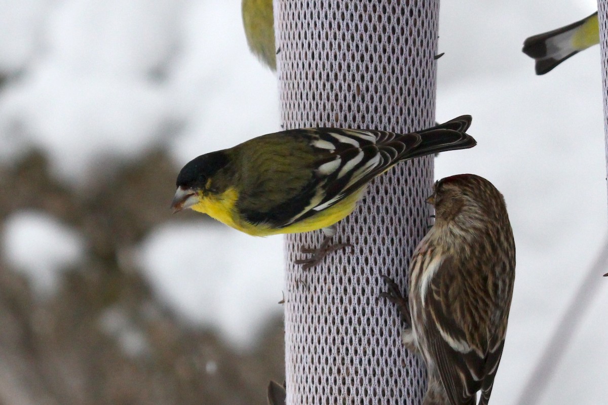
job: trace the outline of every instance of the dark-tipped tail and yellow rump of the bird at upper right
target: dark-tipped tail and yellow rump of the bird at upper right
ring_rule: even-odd
[[[599,44],[598,12],[569,26],[531,36],[523,53],[534,58],[537,75],[544,75],[581,50]]]

